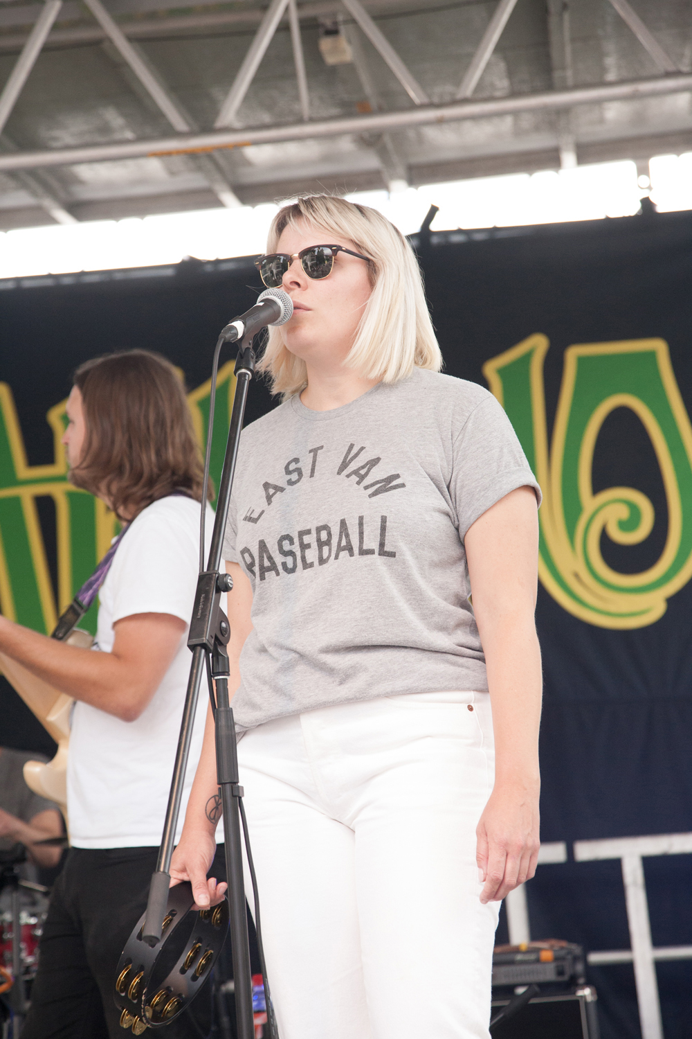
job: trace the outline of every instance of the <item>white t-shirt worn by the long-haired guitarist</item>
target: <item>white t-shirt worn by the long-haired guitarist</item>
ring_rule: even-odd
[[[209,553],[214,512],[207,506]],[[101,588],[96,646],[113,647],[113,624],[136,613],[192,614],[199,565],[199,504],[162,498],[133,521]],[[222,600],[225,610],[225,595]],[[161,843],[192,655],[188,629],[148,705],[120,721],[88,703],[73,712],[67,761],[70,835],[77,848],[154,847]],[[202,677],[175,840],[179,838],[202,746],[209,694]],[[223,841],[223,835],[217,840]]]

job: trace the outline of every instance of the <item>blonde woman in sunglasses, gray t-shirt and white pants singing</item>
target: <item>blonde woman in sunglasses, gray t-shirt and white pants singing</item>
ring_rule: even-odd
[[[483,1039],[499,902],[538,851],[539,489],[502,408],[439,374],[375,210],[277,214],[294,315],[225,540],[232,707],[282,1039]],[[473,606],[471,606],[471,594]],[[207,886],[211,724],[171,873]]]

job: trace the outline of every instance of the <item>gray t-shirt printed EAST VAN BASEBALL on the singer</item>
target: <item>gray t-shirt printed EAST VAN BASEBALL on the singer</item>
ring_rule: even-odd
[[[464,537],[524,485],[539,500],[495,398],[422,369],[330,411],[296,396],[249,425],[224,542],[253,589],[239,731],[334,703],[487,690]]]

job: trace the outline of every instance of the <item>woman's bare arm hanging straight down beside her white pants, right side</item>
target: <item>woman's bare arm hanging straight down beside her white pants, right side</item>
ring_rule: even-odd
[[[538,857],[541,649],[533,614],[538,517],[519,487],[467,532],[473,611],[488,667],[495,730],[495,787],[477,827],[481,902],[530,879]]]

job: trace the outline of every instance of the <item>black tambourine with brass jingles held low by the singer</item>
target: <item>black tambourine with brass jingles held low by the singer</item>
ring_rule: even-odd
[[[192,887],[168,894],[161,941],[142,941],[144,913],[118,960],[113,992],[120,1028],[136,1036],[163,1028],[183,1013],[209,977],[228,933],[228,903],[193,909]]]

